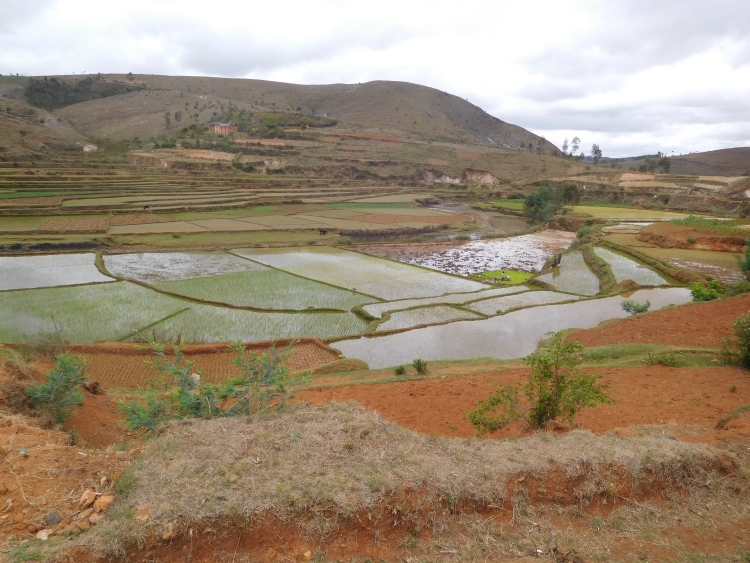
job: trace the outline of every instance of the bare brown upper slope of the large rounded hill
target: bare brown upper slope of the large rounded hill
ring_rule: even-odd
[[[124,75],[104,75],[124,81]],[[299,85],[264,80],[135,75],[141,92],[75,104],[60,110],[87,134],[129,139],[164,132],[166,111],[197,112],[208,121],[221,106],[251,111],[329,114],[344,129],[396,136],[480,143],[501,148],[553,154],[557,148],[517,125],[505,123],[481,108],[434,88],[407,82]],[[196,107],[197,104],[197,107]],[[175,128],[184,124],[173,123]]]

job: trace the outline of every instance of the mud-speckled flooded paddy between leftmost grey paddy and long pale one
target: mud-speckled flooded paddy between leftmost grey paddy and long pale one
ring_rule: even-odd
[[[145,252],[104,256],[111,274],[143,283],[184,280],[266,270],[226,252]]]

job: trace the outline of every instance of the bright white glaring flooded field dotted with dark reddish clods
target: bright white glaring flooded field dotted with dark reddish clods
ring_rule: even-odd
[[[412,255],[404,261],[462,276],[490,270],[538,272],[548,258],[568,248],[575,238],[575,233],[545,230],[506,239],[476,240]]]

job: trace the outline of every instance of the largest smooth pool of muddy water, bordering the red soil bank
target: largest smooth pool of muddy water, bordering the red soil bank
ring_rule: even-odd
[[[690,301],[685,288],[644,289],[631,299],[651,301],[655,311],[667,305]],[[359,358],[370,368],[384,368],[425,360],[493,357],[521,358],[536,350],[547,332],[568,328],[592,328],[603,321],[626,317],[623,297],[607,297],[522,309],[480,321],[457,321],[374,338],[343,340],[333,344],[350,358]]]

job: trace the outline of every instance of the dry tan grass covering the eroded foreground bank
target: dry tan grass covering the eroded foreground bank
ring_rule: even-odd
[[[574,431],[512,441],[436,438],[351,403],[298,407],[256,421],[174,423],[123,477],[128,486],[121,486],[105,523],[76,545],[111,556],[161,535],[169,523],[184,532],[201,522],[268,515],[291,522],[303,514],[306,533],[324,538],[388,499],[417,494],[416,513],[431,522],[433,541],[458,534],[476,551],[482,534],[497,533],[461,534],[462,527],[479,526],[478,507],[501,508],[525,522],[553,510],[555,500],[563,502],[561,509],[578,511],[638,505],[633,499],[648,491],[706,482],[723,467],[718,451],[666,436]],[[540,500],[545,487],[549,498]],[[145,524],[127,516],[139,506],[149,509]],[[465,514],[461,526],[449,525],[448,512]],[[515,547],[493,541],[493,554],[511,555],[527,540],[512,539]]]

